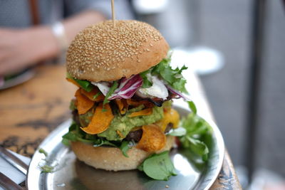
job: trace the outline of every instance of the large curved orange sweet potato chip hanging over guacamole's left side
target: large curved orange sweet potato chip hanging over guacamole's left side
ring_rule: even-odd
[[[81,130],[88,134],[98,134],[107,130],[114,115],[109,104],[105,104],[104,109],[105,111],[103,112],[103,103],[99,103],[91,122],[87,127],[81,127]]]

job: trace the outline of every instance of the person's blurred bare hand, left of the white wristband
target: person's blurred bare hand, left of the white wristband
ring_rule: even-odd
[[[0,28],[0,76],[16,73],[58,53],[56,38],[46,26]]]

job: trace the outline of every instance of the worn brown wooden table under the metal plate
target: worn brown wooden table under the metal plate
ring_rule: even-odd
[[[71,117],[68,107],[76,87],[65,76],[63,65],[42,65],[33,79],[0,91],[0,142],[4,147],[31,157],[49,132]],[[201,88],[197,78],[190,80]],[[242,189],[227,151],[211,189]]]

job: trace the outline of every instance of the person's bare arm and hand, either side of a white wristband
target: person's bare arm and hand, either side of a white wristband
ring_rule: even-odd
[[[83,11],[63,20],[66,40],[71,43],[76,33],[91,23],[103,21],[97,11]],[[38,61],[61,53],[61,46],[50,26],[26,29],[0,28],[0,77],[27,68]]]

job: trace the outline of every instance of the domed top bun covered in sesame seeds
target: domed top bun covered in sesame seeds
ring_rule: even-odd
[[[130,77],[160,63],[169,46],[159,31],[140,21],[104,21],[78,33],[66,55],[67,72],[81,80]]]

